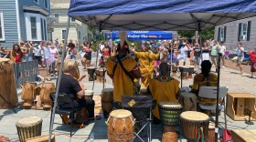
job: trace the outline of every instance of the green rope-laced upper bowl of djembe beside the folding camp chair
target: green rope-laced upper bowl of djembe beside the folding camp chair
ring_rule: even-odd
[[[179,124],[179,115],[182,106],[176,102],[161,102],[158,105],[159,116],[162,123],[166,126],[176,126]]]

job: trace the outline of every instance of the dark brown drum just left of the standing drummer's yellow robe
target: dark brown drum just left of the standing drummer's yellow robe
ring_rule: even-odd
[[[101,93],[101,108],[105,118],[109,117],[110,113],[112,112],[112,101],[113,89],[104,88]]]

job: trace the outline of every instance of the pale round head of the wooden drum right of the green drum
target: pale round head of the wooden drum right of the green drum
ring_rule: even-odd
[[[186,111],[180,114],[181,118],[191,121],[206,121],[209,119],[208,115],[197,111]]]

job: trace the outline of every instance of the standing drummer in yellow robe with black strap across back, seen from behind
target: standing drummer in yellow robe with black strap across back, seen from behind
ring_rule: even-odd
[[[113,106],[120,108],[122,96],[132,96],[134,94],[133,80],[134,78],[140,78],[141,72],[136,60],[131,56],[127,56],[129,54],[129,46],[126,41],[124,41],[123,46],[121,44],[117,46],[116,52],[117,55],[108,58],[105,66],[107,74],[112,78],[113,82]]]

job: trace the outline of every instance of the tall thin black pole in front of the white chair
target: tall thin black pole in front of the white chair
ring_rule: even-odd
[[[216,115],[215,115],[215,142],[218,142],[218,133],[219,133],[219,76],[220,76],[220,57],[222,56],[221,53],[218,53],[218,84],[217,84],[217,104],[216,104]]]

